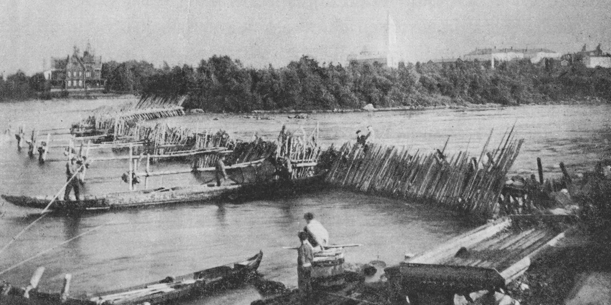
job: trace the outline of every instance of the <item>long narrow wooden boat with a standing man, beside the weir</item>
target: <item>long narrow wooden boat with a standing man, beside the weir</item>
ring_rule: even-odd
[[[299,178],[288,183],[272,180],[264,183],[244,183],[239,185],[192,185],[171,188],[144,189],[141,191],[125,191],[108,193],[100,196],[83,196],[81,201],[56,200],[51,204],[51,210],[63,211],[105,211],[120,208],[148,207],[155,205],[172,205],[189,202],[201,202],[214,199],[249,199],[262,196],[286,194],[296,189],[304,189],[324,180],[324,175]],[[45,208],[51,196],[10,196],[2,195],[2,199],[14,205],[30,208]]]

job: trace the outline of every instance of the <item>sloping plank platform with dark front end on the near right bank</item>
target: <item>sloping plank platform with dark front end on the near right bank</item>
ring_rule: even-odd
[[[440,294],[446,301],[455,295],[475,300],[488,292],[503,296],[532,260],[572,230],[570,224],[546,223],[540,218],[502,218],[387,268],[387,276],[393,285],[402,287],[401,293],[420,299],[416,304],[434,304],[431,299]]]

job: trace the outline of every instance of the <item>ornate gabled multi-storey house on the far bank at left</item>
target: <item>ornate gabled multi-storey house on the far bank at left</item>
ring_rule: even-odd
[[[51,59],[51,69],[46,70],[44,75],[51,82],[51,91],[101,90],[104,88],[101,71],[102,57],[95,56],[87,43],[82,56],[75,46],[72,55]]]

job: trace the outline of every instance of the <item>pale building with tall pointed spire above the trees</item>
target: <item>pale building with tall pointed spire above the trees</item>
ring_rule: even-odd
[[[397,51],[397,26],[390,14],[387,21],[386,41],[382,50],[369,50],[365,46],[360,53],[348,55],[348,64],[380,64],[386,67],[398,67],[400,59]]]

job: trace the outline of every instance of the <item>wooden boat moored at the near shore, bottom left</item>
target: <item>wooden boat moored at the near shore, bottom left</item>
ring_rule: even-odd
[[[136,305],[147,302],[155,305],[173,303],[178,299],[205,295],[247,281],[249,276],[257,271],[262,257],[263,252],[259,252],[243,262],[230,263],[184,276],[168,276],[161,281],[82,298],[64,295],[64,300],[62,300],[62,293],[43,293],[37,290],[29,291],[27,293],[29,298],[25,298],[23,295],[26,289],[6,288],[5,286],[3,289],[5,293],[0,293],[0,304]]]

